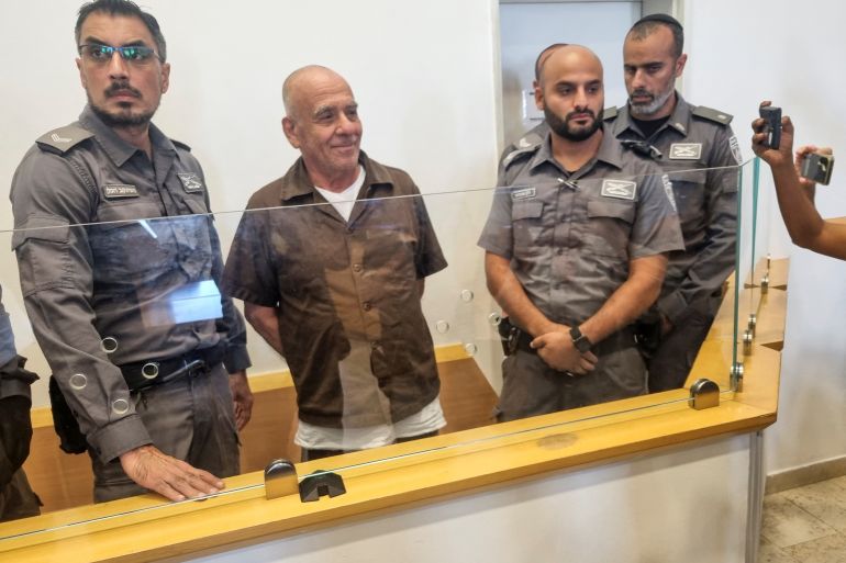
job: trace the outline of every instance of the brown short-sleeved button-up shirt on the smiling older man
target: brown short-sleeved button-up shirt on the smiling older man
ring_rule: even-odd
[[[402,170],[370,160],[346,222],[314,189],[302,159],[249,199],[223,275],[233,297],[278,308],[302,420],[345,420],[338,362],[349,340],[401,420],[431,403],[439,381],[419,280],[446,267],[423,199]]]

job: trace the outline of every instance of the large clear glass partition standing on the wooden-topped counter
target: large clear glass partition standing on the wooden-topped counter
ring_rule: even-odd
[[[402,455],[403,463],[414,463],[468,443],[486,449],[502,443],[499,439],[532,439],[533,430],[515,432],[499,424],[509,419],[570,410],[554,423],[538,418],[536,429],[544,429],[687,401],[684,392],[635,403],[631,397],[649,391],[646,365],[655,345],[649,339],[660,339],[650,303],[667,300],[672,291],[661,284],[672,280],[678,289],[692,263],[695,243],[682,245],[674,205],[683,228],[686,211],[702,205],[695,188],[708,174],[724,177],[727,185],[737,181],[739,218],[736,237],[726,235],[727,266],[717,268],[728,279],[716,280],[715,290],[701,296],[702,316],[713,324],[689,339],[694,344],[684,352],[692,369],[681,380],[688,386],[708,378],[730,391],[733,344],[743,345],[738,319],[743,325],[755,299],[754,288],[733,281],[750,279],[758,259],[757,178],[750,169],[746,164],[520,179],[496,189],[423,195],[380,181],[368,182],[358,201],[335,204],[302,194],[286,200],[276,185],[254,200],[265,202],[255,209],[214,215],[203,195],[186,191],[176,194],[186,214],[164,217],[158,203],[103,196],[96,223],[36,216],[5,228],[1,236],[16,249],[24,282],[21,288],[12,268],[0,274],[0,283],[19,340],[34,329],[51,357],[71,420],[88,435],[81,446],[90,450],[98,474],[114,470],[114,463],[110,469],[100,460],[103,451],[120,448],[121,425],[135,430],[131,425],[141,425],[154,443],[157,436],[172,438],[169,451],[190,459],[197,452],[178,436],[208,430],[186,430],[193,420],[175,413],[200,418],[230,413],[226,376],[218,365],[240,361],[243,322],[233,303],[247,316],[255,398],[252,419],[240,432],[241,473],[260,471],[277,458],[299,463],[303,447],[314,460],[497,425],[485,438],[456,435],[436,446],[415,440],[414,453]],[[666,267],[663,255],[669,256]],[[503,264],[497,278],[496,268]],[[514,295],[535,304],[554,326],[530,331],[523,325],[532,317]],[[575,356],[566,348],[575,346],[574,326],[597,340]],[[675,328],[695,327],[690,320]],[[560,349],[556,333],[566,335]],[[222,345],[226,336],[230,348]],[[576,363],[567,363],[574,357]],[[47,373],[42,375],[36,396],[46,395]],[[528,376],[526,385],[521,378]],[[580,408],[600,403],[608,408]],[[35,412],[40,423],[25,468],[44,511],[90,503],[89,455],[59,451],[46,405],[36,401]],[[213,450],[220,451],[207,465],[220,475],[232,473],[226,455],[237,451],[232,416],[218,420],[222,431],[218,426],[209,435],[226,435],[215,439]],[[325,459],[319,466],[358,471],[348,459]],[[386,461],[397,462],[393,455]],[[246,489],[224,491],[215,502],[259,494],[260,474],[248,481]],[[159,509],[172,506],[157,498]],[[130,515],[116,518],[109,505],[101,511],[118,526],[134,521]],[[71,526],[77,523],[73,513],[31,525],[2,523],[0,536],[16,539],[0,542],[0,549],[53,527],[78,533]]]

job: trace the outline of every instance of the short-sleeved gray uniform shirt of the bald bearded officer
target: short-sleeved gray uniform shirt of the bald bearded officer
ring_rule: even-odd
[[[553,157],[549,133],[503,165],[479,246],[511,260],[553,322],[581,324],[626,281],[630,260],[682,248],[666,178],[608,131],[571,174]]]

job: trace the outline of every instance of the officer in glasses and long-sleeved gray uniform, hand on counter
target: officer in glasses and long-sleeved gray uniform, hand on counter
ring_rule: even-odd
[[[76,40],[88,105],[38,138],[12,180],[26,311],[88,442],[96,500],[211,494],[238,472],[249,358],[216,289],[200,165],[151,123],[168,87],[165,40],[127,0],[85,4]]]

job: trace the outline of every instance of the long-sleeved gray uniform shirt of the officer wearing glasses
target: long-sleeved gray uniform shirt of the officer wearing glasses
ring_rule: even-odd
[[[149,136],[153,162],[86,108],[26,153],[10,195],[33,330],[103,461],[151,443],[116,365],[221,341],[230,372],[249,365],[244,320],[215,289],[223,260],[199,215],[209,212],[200,165],[154,125]],[[185,306],[203,294],[209,311]],[[118,345],[110,354],[104,337]]]

